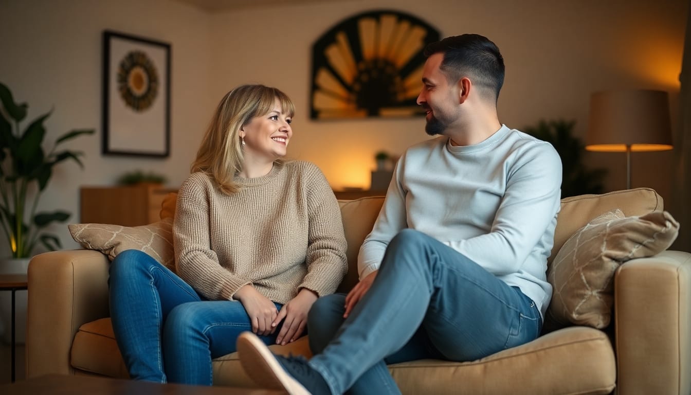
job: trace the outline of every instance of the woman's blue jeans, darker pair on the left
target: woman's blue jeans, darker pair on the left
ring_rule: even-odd
[[[211,385],[211,359],[236,351],[240,333],[252,331],[240,302],[206,300],[139,250],[113,259],[108,284],[115,340],[135,380]],[[274,344],[278,331],[260,338]]]

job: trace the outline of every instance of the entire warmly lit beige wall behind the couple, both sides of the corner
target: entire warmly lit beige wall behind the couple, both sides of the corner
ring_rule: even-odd
[[[79,185],[110,184],[128,169],[163,172],[171,185],[179,185],[214,105],[231,87],[247,82],[278,86],[296,102],[290,156],[319,165],[334,187],[368,187],[375,151],[401,154],[426,138],[424,120],[309,119],[312,43],[345,17],[393,8],[437,26],[442,36],[486,35],[507,64],[500,120],[520,129],[542,118],[576,119],[576,131],[585,135],[589,94],[601,89],[668,91],[679,127],[687,7],[684,0],[350,0],[211,15],[168,0],[3,0],[0,80],[30,102],[32,116],[55,105],[49,139],[73,127],[97,129],[97,136],[71,145],[86,151],[86,169],[61,167],[42,203],[46,208],[76,214]],[[100,154],[104,28],[172,44],[172,151],[166,160]],[[587,158],[609,169],[607,190],[625,187],[623,154]],[[672,154],[634,154],[633,186],[654,187],[671,201],[669,172],[655,171],[650,163],[670,169]],[[64,227],[60,232],[73,246]]]

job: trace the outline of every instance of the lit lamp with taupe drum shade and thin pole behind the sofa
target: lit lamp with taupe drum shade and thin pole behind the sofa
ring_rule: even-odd
[[[672,149],[667,92],[636,89],[593,93],[585,149],[626,152],[626,188],[631,189],[632,152]]]

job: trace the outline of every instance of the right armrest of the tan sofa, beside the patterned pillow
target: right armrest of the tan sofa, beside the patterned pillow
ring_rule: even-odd
[[[632,259],[614,287],[618,394],[689,394],[691,254]]]

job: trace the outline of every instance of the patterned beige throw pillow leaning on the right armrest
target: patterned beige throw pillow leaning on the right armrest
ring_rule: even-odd
[[[614,271],[623,262],[666,250],[679,233],[668,212],[624,217],[621,210],[596,217],[574,233],[547,269],[553,286],[548,318],[603,329],[614,300]]]

